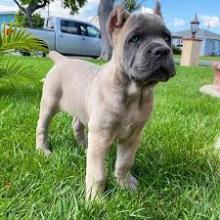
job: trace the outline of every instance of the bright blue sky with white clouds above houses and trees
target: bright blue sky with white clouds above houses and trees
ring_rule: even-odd
[[[120,0],[117,0],[117,2]],[[70,10],[63,9],[61,1],[55,0],[50,5],[50,15],[60,17],[71,17]],[[142,11],[151,11],[155,0],[139,0]],[[99,0],[87,0],[75,18],[90,21],[97,15]],[[190,28],[190,21],[198,14],[200,28],[220,34],[220,1],[219,0],[161,0],[162,12],[165,23],[172,32]],[[0,0],[0,11],[17,10],[13,0]],[[47,10],[41,10],[42,15]]]

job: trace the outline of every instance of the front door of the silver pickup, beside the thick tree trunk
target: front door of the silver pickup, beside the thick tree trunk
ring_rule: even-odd
[[[97,28],[89,24],[80,25],[85,43],[85,56],[98,57],[101,54],[101,35]]]

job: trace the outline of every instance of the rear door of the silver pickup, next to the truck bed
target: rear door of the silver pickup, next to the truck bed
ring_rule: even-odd
[[[56,48],[63,54],[83,55],[84,40],[80,24],[71,20],[60,20],[60,32],[57,33]]]

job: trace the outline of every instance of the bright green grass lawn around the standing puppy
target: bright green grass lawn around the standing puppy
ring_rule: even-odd
[[[198,91],[212,81],[211,68],[177,67],[177,76],[157,87],[133,168],[137,192],[116,186],[113,146],[105,198],[86,203],[85,153],[74,140],[71,118],[54,118],[50,158],[35,151],[40,79],[52,62],[13,59],[31,71],[28,79],[0,80],[0,219],[220,219],[220,158],[213,150],[220,102]]]

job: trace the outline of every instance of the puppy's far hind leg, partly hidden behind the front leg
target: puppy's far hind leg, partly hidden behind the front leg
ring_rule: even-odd
[[[83,123],[75,119],[72,122],[73,130],[74,130],[74,135],[77,143],[81,145],[82,147],[86,148],[87,147],[87,135],[85,133],[85,127]]]

